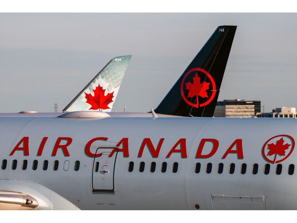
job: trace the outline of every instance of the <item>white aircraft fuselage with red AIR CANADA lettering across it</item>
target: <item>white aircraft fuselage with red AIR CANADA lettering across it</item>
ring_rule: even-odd
[[[0,169],[0,191],[29,194],[38,200],[39,209],[297,209],[297,172],[288,174],[289,165],[296,164],[297,151],[291,145],[285,156],[275,155],[276,161],[288,156],[289,150],[291,154],[275,164],[261,153],[265,142],[277,135],[296,139],[297,120],[0,117],[0,164],[7,160],[7,167]],[[200,145],[203,140],[204,147]],[[216,142],[217,151],[207,157]],[[17,160],[16,169],[12,169],[13,160]],[[26,170],[21,168],[23,160],[28,162]],[[36,170],[32,169],[34,160],[38,161]],[[45,160],[47,170],[42,169]],[[56,160],[59,166],[54,170]],[[74,170],[76,161],[80,162],[78,171]],[[130,162],[134,162],[132,172],[128,171]],[[152,162],[154,172],[150,171]],[[161,172],[163,162],[167,163],[165,172],[164,168]],[[177,172],[173,172],[174,163],[178,163]],[[199,173],[195,173],[197,163]],[[222,173],[218,173],[219,163],[224,165]],[[235,165],[233,174],[230,164]],[[245,173],[241,173],[242,164],[247,165]],[[258,164],[256,174],[252,173],[254,164]],[[268,174],[264,174],[266,164],[270,165]],[[279,175],[277,164],[282,164]],[[50,193],[56,194],[56,200]],[[64,198],[65,206],[59,197]]]

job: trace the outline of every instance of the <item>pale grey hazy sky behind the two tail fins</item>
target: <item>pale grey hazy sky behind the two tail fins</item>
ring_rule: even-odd
[[[219,25],[237,25],[219,100],[297,107],[297,14],[0,14],[0,112],[63,109],[132,55],[113,111],[155,108]]]

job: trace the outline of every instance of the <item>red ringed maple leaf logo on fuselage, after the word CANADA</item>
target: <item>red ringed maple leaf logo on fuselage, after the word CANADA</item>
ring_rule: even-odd
[[[294,147],[295,141],[292,136],[273,136],[264,143],[262,156],[268,163],[280,163],[291,155]]]

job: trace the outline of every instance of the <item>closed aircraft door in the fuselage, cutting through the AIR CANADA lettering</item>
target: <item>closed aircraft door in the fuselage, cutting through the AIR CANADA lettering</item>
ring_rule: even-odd
[[[110,153],[116,150],[110,157]],[[93,160],[92,192],[114,194],[114,171],[119,148],[99,147]]]

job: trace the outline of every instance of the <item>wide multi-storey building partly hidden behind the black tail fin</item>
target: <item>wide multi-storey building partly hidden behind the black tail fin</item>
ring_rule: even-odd
[[[214,117],[252,117],[260,112],[260,100],[223,100],[217,102]]]

